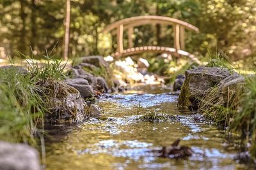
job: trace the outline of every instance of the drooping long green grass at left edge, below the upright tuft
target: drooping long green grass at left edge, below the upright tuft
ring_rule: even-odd
[[[0,72],[0,138],[12,142],[34,143],[38,120],[44,115],[42,90],[31,74],[17,69]]]

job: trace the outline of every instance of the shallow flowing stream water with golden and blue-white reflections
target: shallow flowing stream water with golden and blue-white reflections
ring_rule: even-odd
[[[46,141],[46,169],[243,169],[236,143],[223,131],[177,108],[177,96],[161,86],[106,94],[100,118],[79,125],[55,125]],[[148,112],[175,115],[172,122],[142,122]],[[193,149],[188,159],[156,157],[150,150],[181,139]]]

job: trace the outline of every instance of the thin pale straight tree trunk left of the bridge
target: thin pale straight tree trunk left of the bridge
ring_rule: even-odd
[[[69,29],[70,29],[70,0],[66,1],[66,19],[65,19],[65,39],[64,39],[64,51],[63,59],[68,59],[68,45],[69,45]]]

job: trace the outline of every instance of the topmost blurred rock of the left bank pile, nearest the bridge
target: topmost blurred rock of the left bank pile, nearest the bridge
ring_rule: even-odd
[[[88,56],[88,57],[81,57],[82,62],[86,62],[88,64],[92,64],[96,67],[104,67],[109,69],[109,64],[106,60],[103,59],[102,56]]]

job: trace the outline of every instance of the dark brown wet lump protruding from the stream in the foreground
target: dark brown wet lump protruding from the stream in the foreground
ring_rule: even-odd
[[[177,139],[171,146],[164,146],[160,151],[160,157],[186,158],[191,157],[193,150],[187,146],[179,146],[180,139]]]

